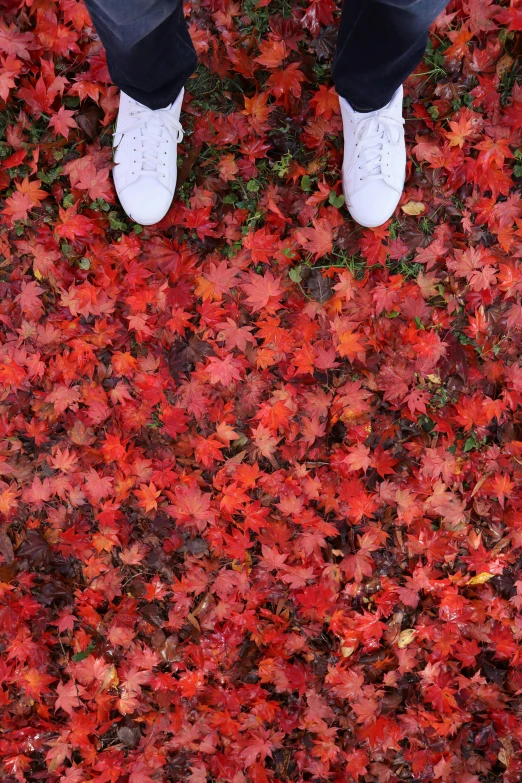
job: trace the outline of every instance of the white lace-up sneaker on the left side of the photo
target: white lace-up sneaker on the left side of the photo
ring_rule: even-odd
[[[114,185],[136,223],[151,226],[167,214],[177,179],[177,147],[184,90],[166,109],[149,109],[120,93],[114,134]]]

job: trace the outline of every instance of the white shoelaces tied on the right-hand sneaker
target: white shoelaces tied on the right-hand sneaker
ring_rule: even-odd
[[[404,119],[398,120],[388,114],[378,114],[361,120],[355,132],[354,166],[364,164],[361,179],[382,179],[382,156],[386,143],[397,144],[400,141]],[[362,168],[362,167],[361,167]]]

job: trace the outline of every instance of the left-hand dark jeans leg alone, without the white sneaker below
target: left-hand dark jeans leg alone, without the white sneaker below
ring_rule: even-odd
[[[161,109],[179,95],[197,58],[182,0],[85,0],[107,53],[111,79],[126,95]]]

